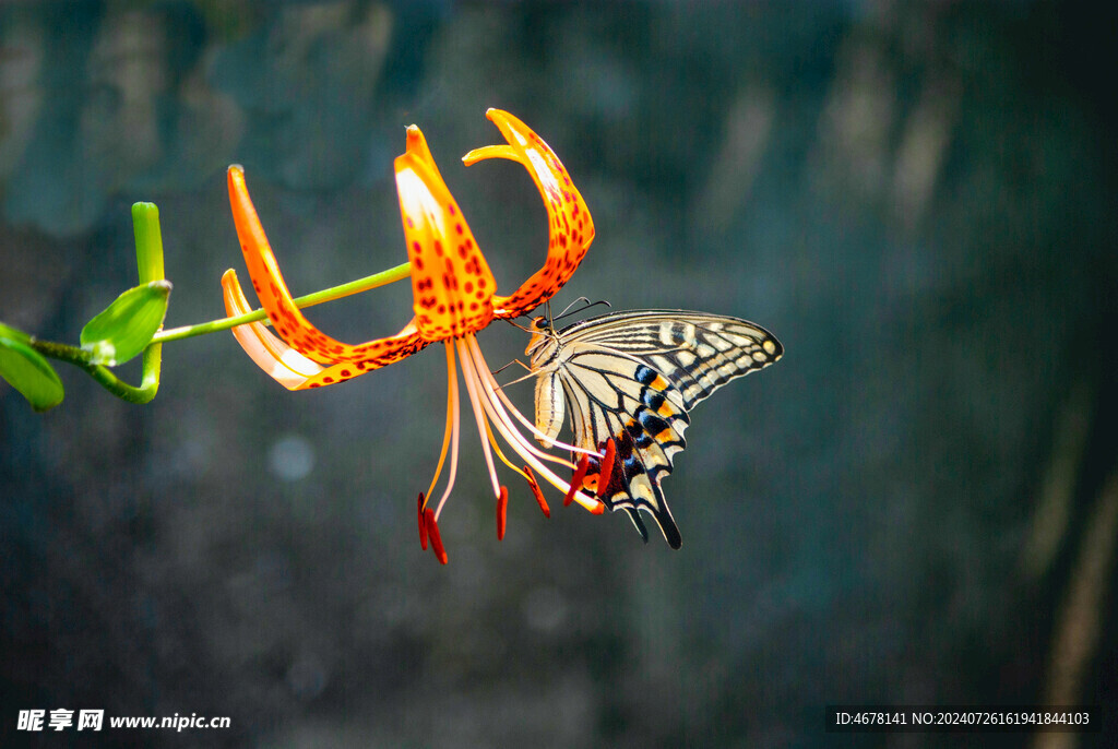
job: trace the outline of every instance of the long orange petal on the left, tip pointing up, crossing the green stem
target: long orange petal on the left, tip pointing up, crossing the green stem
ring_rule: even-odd
[[[267,311],[276,333],[291,349],[306,359],[328,366],[348,364],[348,367],[324,369],[313,378],[313,381],[319,385],[332,385],[357,377],[371,369],[399,361],[427,344],[410,324],[396,335],[375,339],[359,345],[332,339],[312,325],[295,306],[291,292],[287,291],[287,284],[280,273],[280,265],[272,253],[272,246],[264,234],[256,208],[248,196],[244,170],[236,164],[229,167],[228,178],[229,203],[233,207],[233,220],[237,226],[240,248],[245,254],[245,264],[253,279],[253,288],[256,290],[260,304]],[[338,372],[334,372],[335,369]],[[341,370],[345,370],[348,376],[337,377]],[[315,386],[304,383],[300,387]]]

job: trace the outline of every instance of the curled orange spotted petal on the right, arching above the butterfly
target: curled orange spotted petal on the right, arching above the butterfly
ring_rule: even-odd
[[[555,152],[520,120],[501,110],[485,113],[508,145],[486,145],[463,157],[468,167],[483,159],[511,159],[528,169],[548,210],[548,258],[520,288],[493,297],[494,316],[515,317],[551,298],[582,262],[594,240],[594,221]]]

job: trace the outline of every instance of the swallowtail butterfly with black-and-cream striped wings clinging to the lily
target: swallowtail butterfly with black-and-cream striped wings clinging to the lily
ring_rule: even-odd
[[[572,444],[596,453],[572,491],[625,510],[645,541],[641,512],[652,515],[679,549],[682,538],[660,482],[684,448],[688,411],[730,380],[775,362],[784,347],[746,320],[682,310],[613,312],[562,330],[538,316],[529,332],[536,426],[547,437],[537,439],[553,440],[569,411]]]

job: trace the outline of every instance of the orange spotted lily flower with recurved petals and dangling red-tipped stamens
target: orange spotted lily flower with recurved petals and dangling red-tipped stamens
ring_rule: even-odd
[[[444,183],[423,133],[411,125],[407,130],[406,151],[396,159],[395,167],[404,236],[411,263],[415,316],[396,335],[359,345],[342,343],[323,334],[295,306],[248,197],[244,171],[239,167],[229,168],[229,200],[237,236],[253,287],[278,333],[276,336],[262,323],[250,323],[235,328],[234,335],[262,369],[284,387],[301,390],[341,382],[399,361],[429,343],[445,343],[448,381],[446,432],[435,477],[426,494],[420,494],[418,501],[420,542],[426,549],[429,539],[443,563],[446,563],[447,558],[437,520],[454,486],[458,463],[461,409],[455,354],[462,362],[463,379],[477,420],[493,492],[498,497],[498,537],[504,535],[508,491],[498,481],[493,452],[528,481],[544,514],[550,511],[537,483],[537,473],[563,492],[568,501],[574,496],[591,512],[600,514],[605,511],[601,502],[578,491],[581,489],[580,481],[572,489],[570,483],[556,475],[544,462],[558,463],[571,470],[576,468],[575,464],[532,445],[520,433],[517,423],[552,447],[571,453],[588,451],[548,438],[524,418],[498,386],[475,338],[477,331],[493,320],[517,317],[551,298],[570,278],[594,239],[594,224],[586,203],[551,149],[508,112],[490,110],[486,116],[500,129],[506,144],[476,149],[467,153],[463,161],[470,165],[483,159],[502,158],[518,161],[528,169],[547,205],[547,262],[512,294],[495,294],[496,283],[489,264],[457,202]],[[235,272],[226,272],[221,284],[228,314],[249,311]],[[492,427],[524,461],[522,467],[505,457]],[[439,501],[432,503],[429,499],[438,483],[448,448],[451,463],[447,485]],[[576,472],[576,478],[577,476]],[[429,506],[432,504],[434,506]]]

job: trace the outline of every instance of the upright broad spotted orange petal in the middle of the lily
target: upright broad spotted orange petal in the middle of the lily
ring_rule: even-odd
[[[425,341],[479,331],[493,320],[496,282],[423,133],[411,125],[407,139],[406,152],[396,159],[396,188],[416,328]]]

